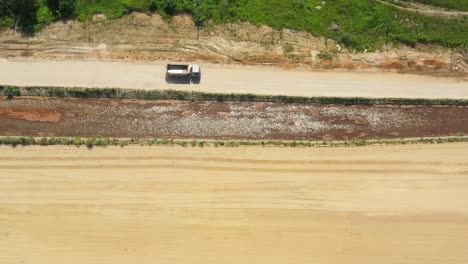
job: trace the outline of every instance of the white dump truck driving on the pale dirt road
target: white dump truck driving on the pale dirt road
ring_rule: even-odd
[[[198,64],[167,64],[166,81],[175,83],[200,83],[201,68]]]

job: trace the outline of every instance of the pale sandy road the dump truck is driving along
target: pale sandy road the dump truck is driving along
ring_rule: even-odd
[[[168,84],[165,63],[0,59],[10,85],[180,89],[301,96],[468,98],[463,79],[395,73],[312,72],[273,67],[202,65],[199,85]]]

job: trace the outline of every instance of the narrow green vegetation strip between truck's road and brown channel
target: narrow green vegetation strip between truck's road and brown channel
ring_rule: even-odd
[[[363,98],[363,97],[305,97],[259,94],[224,94],[178,90],[138,90],[119,88],[64,88],[64,87],[16,87],[1,86],[0,95],[46,96],[59,98],[113,98],[139,100],[186,100],[216,102],[277,102],[304,104],[343,105],[468,105],[464,99],[406,99],[406,98]]]

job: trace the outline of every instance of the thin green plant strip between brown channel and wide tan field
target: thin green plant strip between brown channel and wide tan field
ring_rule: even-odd
[[[184,139],[146,139],[146,138],[81,138],[81,137],[0,137],[0,145],[6,146],[49,146],[66,145],[92,149],[95,146],[181,146],[181,147],[361,147],[371,145],[405,145],[405,144],[441,144],[468,142],[467,136],[428,137],[410,139],[357,139],[345,141],[279,141],[279,140],[184,140]]]

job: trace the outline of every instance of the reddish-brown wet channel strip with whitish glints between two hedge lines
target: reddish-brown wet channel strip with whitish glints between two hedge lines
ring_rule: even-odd
[[[0,109],[1,135],[330,140],[468,133],[468,107],[23,98],[0,100]]]

